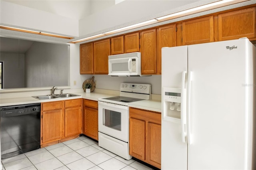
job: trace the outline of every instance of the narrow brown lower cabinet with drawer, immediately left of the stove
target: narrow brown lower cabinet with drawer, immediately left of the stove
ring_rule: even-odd
[[[83,99],[82,133],[98,140],[98,101]]]

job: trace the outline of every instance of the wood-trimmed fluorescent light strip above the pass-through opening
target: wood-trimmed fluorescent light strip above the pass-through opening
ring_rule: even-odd
[[[26,29],[22,29],[22,28],[15,28],[15,27],[8,27],[8,26],[0,26],[0,28],[1,29],[5,29],[5,30],[12,30],[12,31],[26,32],[26,33],[31,33],[31,34],[38,34],[38,35],[42,35],[42,36],[50,36],[50,37],[56,37],[56,38],[73,39],[73,37],[60,36],[60,35],[57,35],[57,34],[49,34],[49,33],[45,33],[45,32],[26,30]]]

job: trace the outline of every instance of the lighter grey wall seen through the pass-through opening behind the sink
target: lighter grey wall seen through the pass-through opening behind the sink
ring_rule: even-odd
[[[25,86],[67,86],[68,45],[34,42],[25,53]]]

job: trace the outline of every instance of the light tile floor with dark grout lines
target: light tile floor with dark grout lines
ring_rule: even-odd
[[[80,136],[2,160],[3,170],[152,170]]]

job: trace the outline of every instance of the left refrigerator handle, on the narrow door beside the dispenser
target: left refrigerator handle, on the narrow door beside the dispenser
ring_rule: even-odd
[[[182,71],[180,103],[181,140],[186,142],[186,71]]]

